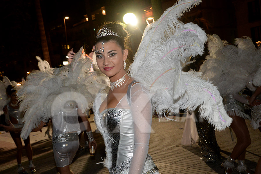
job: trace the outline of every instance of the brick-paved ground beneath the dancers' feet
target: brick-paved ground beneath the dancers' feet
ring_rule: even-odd
[[[181,138],[186,117],[175,117],[177,122],[159,119],[153,116],[152,133],[149,143],[149,154],[161,174],[221,174],[220,164],[230,155],[236,143],[236,137],[233,133],[235,141],[231,140],[229,128],[225,131],[216,131],[216,139],[221,149],[222,159],[215,163],[206,163],[200,160],[200,146],[198,145],[181,145]],[[89,119],[92,130],[95,131],[96,126],[93,122],[93,115]],[[246,120],[247,126],[252,139],[252,144],[247,148],[246,164],[249,170],[254,173],[255,166],[261,155],[261,133],[253,130],[250,121]],[[47,136],[44,137],[43,132],[34,132],[30,134],[30,142],[33,149],[33,162],[36,166],[36,173],[58,174],[55,166],[55,160],[52,152],[52,140]],[[95,156],[85,150],[78,151],[75,155],[70,169],[79,174],[108,174],[108,170],[102,164],[102,158],[105,157],[104,142],[100,133],[93,133],[97,142],[97,150]],[[84,138],[80,140],[80,144],[84,145]],[[0,174],[17,173],[16,162],[16,146],[9,133],[0,134]],[[29,172],[28,159],[25,149],[23,150],[22,164]]]

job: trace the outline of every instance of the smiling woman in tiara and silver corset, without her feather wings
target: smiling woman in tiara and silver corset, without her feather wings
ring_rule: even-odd
[[[152,107],[148,90],[126,73],[128,33],[118,23],[106,23],[97,33],[95,53],[99,69],[110,79],[108,95],[98,93],[93,110],[104,138],[110,173],[159,173],[148,143]]]

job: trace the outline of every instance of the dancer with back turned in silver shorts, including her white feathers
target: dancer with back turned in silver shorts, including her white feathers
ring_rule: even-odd
[[[70,65],[31,73],[18,91],[20,109],[25,110],[21,137],[26,139],[51,118],[54,158],[61,174],[73,174],[70,164],[79,148],[81,132],[78,116],[89,137],[89,147],[97,145],[84,111],[92,106],[97,88],[105,85],[90,76],[91,62],[81,57],[81,52],[75,54]]]

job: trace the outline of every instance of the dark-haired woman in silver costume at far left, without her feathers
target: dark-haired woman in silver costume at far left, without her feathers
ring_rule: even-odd
[[[28,173],[22,166],[22,151],[23,151],[23,145],[21,142],[21,137],[20,137],[20,132],[21,129],[23,128],[23,122],[22,122],[22,118],[23,115],[21,115],[21,113],[18,111],[19,110],[19,103],[17,101],[17,91],[14,88],[14,86],[7,86],[6,88],[6,93],[7,96],[10,98],[10,103],[8,103],[4,108],[4,114],[5,114],[5,120],[6,123],[12,126],[12,129],[9,129],[10,131],[10,135],[12,137],[12,139],[14,140],[14,143],[17,147],[17,155],[16,155],[16,159],[17,159],[17,164],[18,164],[18,173],[21,174],[26,174]],[[3,126],[4,128],[6,128],[8,130],[8,127],[10,126]],[[25,148],[26,148],[26,154],[29,160],[29,168],[31,173],[35,173],[35,166],[32,163],[32,147],[30,144],[30,137],[28,136],[27,139],[23,140],[24,144],[25,144]]]

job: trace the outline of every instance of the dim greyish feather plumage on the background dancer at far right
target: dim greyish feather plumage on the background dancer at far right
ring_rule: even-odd
[[[261,85],[261,70],[258,70],[261,50],[255,48],[249,37],[236,38],[235,44],[230,45],[218,35],[208,35],[208,49],[209,56],[200,72],[218,87],[222,97],[239,93],[246,86],[255,90],[252,80],[254,85]]]

